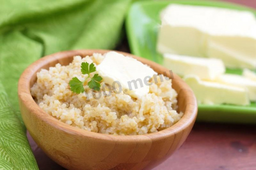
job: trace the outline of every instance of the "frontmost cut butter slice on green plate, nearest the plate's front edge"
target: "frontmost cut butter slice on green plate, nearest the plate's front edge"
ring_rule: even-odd
[[[212,81],[202,81],[199,77],[188,75],[184,77],[196,95],[198,103],[202,104],[233,104],[249,105],[248,91],[241,87],[224,85]]]

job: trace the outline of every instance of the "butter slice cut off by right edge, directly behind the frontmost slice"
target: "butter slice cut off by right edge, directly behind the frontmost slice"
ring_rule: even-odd
[[[246,77],[234,74],[223,74],[219,76],[216,81],[226,85],[242,87],[248,90],[249,99],[251,101],[256,101],[256,81],[252,81]]]

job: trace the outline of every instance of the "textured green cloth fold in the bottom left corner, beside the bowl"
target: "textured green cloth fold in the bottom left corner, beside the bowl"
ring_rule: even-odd
[[[0,82],[0,169],[38,169],[26,132]]]

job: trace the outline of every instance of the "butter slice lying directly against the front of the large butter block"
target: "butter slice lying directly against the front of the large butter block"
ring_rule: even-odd
[[[184,77],[193,74],[200,79],[213,80],[225,73],[224,63],[220,59],[189,57],[185,55],[164,54],[164,67]]]

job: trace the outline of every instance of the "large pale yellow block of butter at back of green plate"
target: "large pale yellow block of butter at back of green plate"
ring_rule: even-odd
[[[161,13],[160,53],[222,59],[230,68],[256,68],[252,12],[171,4]]]

